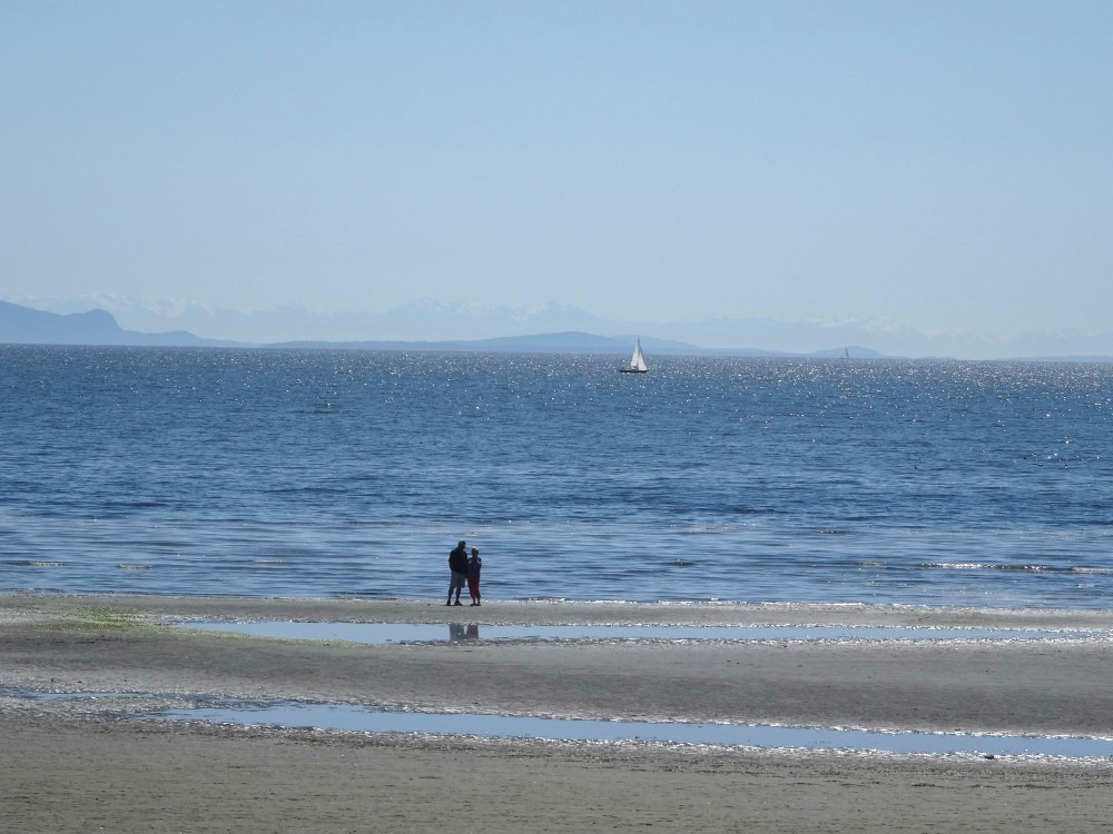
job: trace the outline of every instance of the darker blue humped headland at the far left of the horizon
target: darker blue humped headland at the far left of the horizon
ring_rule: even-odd
[[[125,330],[105,310],[61,315],[0,301],[0,344],[229,347],[236,342],[204,339],[185,330],[158,334]]]

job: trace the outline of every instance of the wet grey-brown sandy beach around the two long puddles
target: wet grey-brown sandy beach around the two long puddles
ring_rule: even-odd
[[[0,597],[12,832],[1058,831],[1113,818],[1113,763],[493,741],[139,722],[119,698],[1113,735],[1106,641],[355,645],[191,618],[1109,629],[1106,612]]]

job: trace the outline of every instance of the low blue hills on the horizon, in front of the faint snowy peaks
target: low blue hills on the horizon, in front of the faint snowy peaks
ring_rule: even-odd
[[[301,340],[282,342],[243,342],[209,339],[187,330],[140,332],[125,330],[106,310],[58,314],[0,301],[0,344],[22,345],[118,345],[149,347],[269,347],[277,349],[328,348],[364,350],[467,350],[487,353],[624,354],[632,349],[634,336],[597,336],[569,330],[564,332],[504,336],[490,339],[408,340]],[[705,348],[683,341],[641,337],[642,346],[659,355],[673,356],[786,356],[784,351],[757,348]],[[807,356],[843,356],[846,348],[812,351]],[[855,357],[879,357],[875,350],[849,348]],[[802,355],[802,354],[800,354]]]

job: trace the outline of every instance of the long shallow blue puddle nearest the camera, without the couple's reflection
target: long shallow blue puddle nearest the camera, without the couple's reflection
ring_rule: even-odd
[[[1027,737],[962,733],[878,733],[860,729],[689,724],[682,722],[582,721],[506,715],[383,712],[343,704],[264,704],[169,709],[146,717],[170,721],[315,727],[363,733],[425,733],[489,738],[658,742],[741,747],[873,751],[885,753],[967,753],[983,756],[1110,758],[1113,739]]]

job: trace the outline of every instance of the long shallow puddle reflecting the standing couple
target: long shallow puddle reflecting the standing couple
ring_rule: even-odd
[[[293,623],[266,620],[179,623],[186,628],[254,637],[348,643],[461,643],[464,641],[1005,641],[1107,637],[1095,632],[867,626],[608,626],[477,625],[475,623]]]

